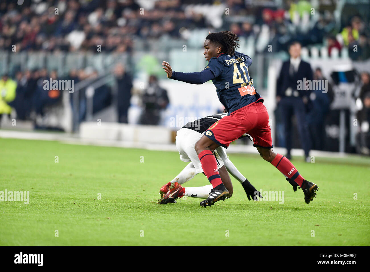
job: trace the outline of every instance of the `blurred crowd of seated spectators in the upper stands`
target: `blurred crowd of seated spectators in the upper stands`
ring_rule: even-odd
[[[368,18],[342,16],[338,20],[334,10],[340,1],[317,0],[314,10],[310,1],[305,0],[263,3],[252,0],[158,0],[151,1],[149,9],[144,9],[139,4],[141,2],[2,0],[0,49],[10,51],[11,46],[16,45],[18,51],[96,52],[97,44],[100,44],[102,51],[132,52],[138,44],[150,46],[151,43],[146,42],[148,39],[184,38],[182,34],[186,31],[219,28],[229,29],[240,37],[253,37],[256,43],[262,40],[261,51],[268,44],[276,51],[286,50],[291,40],[298,40],[302,46],[325,43],[329,55],[332,48],[340,50],[356,44],[361,53],[350,54],[351,58],[364,60],[370,57],[369,22],[364,21]],[[228,10],[223,12],[225,9]],[[364,10],[367,11],[368,8]],[[311,19],[310,14],[316,13],[320,16]]]

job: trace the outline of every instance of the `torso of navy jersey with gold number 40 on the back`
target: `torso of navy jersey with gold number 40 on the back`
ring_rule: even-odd
[[[211,58],[204,68],[215,76],[212,82],[220,102],[229,114],[258,100],[263,102],[249,75],[248,67],[251,64],[252,59],[243,53],[235,52],[234,56],[222,53]]]

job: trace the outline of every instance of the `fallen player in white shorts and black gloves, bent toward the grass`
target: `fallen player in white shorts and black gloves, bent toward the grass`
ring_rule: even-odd
[[[176,203],[176,198],[181,198],[183,196],[206,199],[212,194],[213,188],[211,184],[202,187],[182,187],[181,184],[194,178],[196,174],[203,172],[194,145],[202,137],[204,131],[208,130],[211,125],[226,115],[227,113],[207,116],[195,120],[194,122],[189,122],[177,131],[176,148],[180,153],[180,159],[190,163],[186,165],[172,181],[162,186],[159,190],[161,194],[161,199],[158,202],[159,204]],[[243,135],[243,137],[248,136],[248,134]],[[228,172],[242,184],[249,200],[251,198],[257,200],[255,197],[256,195],[260,197],[260,192],[250,184],[248,179],[239,172],[232,161],[227,157],[225,148],[218,147],[213,151],[213,154],[216,157],[218,174],[223,184],[225,184],[226,189],[229,191],[229,197],[233,194],[233,188]]]

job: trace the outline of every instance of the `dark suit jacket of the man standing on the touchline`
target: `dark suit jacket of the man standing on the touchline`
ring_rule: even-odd
[[[306,81],[313,80],[311,65],[308,62],[301,60],[298,66],[298,70],[293,75],[290,75],[289,68],[290,60],[283,62],[279,77],[277,78],[276,95],[280,97],[286,96],[296,97],[295,95],[293,95],[293,93],[292,95],[286,95],[286,90],[288,88],[291,88],[292,92],[298,91],[299,97],[303,96],[309,97],[311,93],[310,90],[297,90],[298,86],[297,81],[298,80],[303,81],[303,78],[306,78]]]

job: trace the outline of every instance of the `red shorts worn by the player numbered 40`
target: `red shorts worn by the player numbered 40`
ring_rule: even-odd
[[[252,136],[254,147],[273,147],[269,114],[262,102],[254,103],[223,117],[211,125],[204,135],[227,148],[244,133]]]

